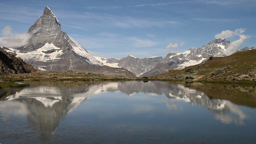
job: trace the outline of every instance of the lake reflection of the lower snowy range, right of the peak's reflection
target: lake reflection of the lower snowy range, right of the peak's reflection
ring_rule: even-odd
[[[209,87],[209,89],[212,89]],[[228,89],[227,89],[228,90]],[[132,95],[136,93],[146,93],[154,95],[165,94],[167,98],[183,100],[190,104],[196,104],[203,106],[208,110],[212,111],[217,120],[220,120],[223,123],[236,123],[243,124],[243,119],[247,116],[232,102],[221,99],[212,99],[204,92],[190,88],[183,84],[178,83],[168,83],[168,82],[159,82],[159,81],[149,81],[149,82],[110,82],[102,84],[90,85],[90,90],[87,94],[90,98],[90,95],[93,93],[99,92],[115,92],[121,91],[127,95]],[[220,92],[221,93],[221,92]],[[233,95],[236,97],[236,95]],[[170,102],[170,101],[169,101]],[[168,103],[167,106],[170,109],[175,109],[174,107],[177,103]],[[234,116],[236,115],[236,116]]]

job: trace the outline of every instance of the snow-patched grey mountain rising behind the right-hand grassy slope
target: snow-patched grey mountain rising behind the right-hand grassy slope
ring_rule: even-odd
[[[206,61],[210,56],[216,56],[226,50],[229,44],[230,41],[216,38],[200,48],[190,48],[182,53],[169,53],[162,63],[157,64],[155,68],[142,74],[141,77],[154,76],[168,72],[170,69],[183,69],[187,66],[200,64]]]

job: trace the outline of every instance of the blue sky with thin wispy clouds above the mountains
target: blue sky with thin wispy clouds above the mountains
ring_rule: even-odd
[[[46,6],[93,56],[165,57],[225,32],[231,42],[246,36],[238,49],[256,45],[256,0],[1,0],[0,38],[6,26],[27,32]]]

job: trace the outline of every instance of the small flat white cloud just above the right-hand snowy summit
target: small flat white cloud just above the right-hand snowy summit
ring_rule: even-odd
[[[241,34],[243,34],[245,32],[245,30],[246,30],[245,28],[238,28],[234,31],[224,30],[220,34],[216,34],[214,37],[215,38],[231,38],[234,36],[240,36]]]

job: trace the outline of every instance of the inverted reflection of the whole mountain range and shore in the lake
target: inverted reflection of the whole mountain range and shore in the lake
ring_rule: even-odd
[[[0,102],[0,112],[4,111],[1,120],[8,121],[6,114],[21,114],[34,125],[37,131],[40,132],[40,137],[44,141],[51,140],[51,135],[54,134],[60,120],[68,113],[75,110],[86,99],[91,99],[95,94],[103,92],[122,92],[127,96],[134,94],[150,94],[150,95],[165,95],[166,106],[169,110],[182,109],[178,107],[177,100],[181,100],[192,105],[198,105],[206,108],[216,120],[230,124],[243,126],[244,120],[248,116],[243,112],[237,104],[234,104],[229,97],[224,99],[215,99],[215,94],[227,94],[229,90],[234,91],[235,86],[220,85],[220,88],[225,87],[225,90],[216,88],[218,85],[204,85],[200,83],[184,84],[184,83],[169,83],[159,81],[149,82],[31,82],[30,87],[18,90],[15,94],[10,93],[4,100]],[[230,88],[228,88],[230,87]],[[215,88],[215,91],[214,91]],[[250,90],[249,90],[250,89]],[[241,96],[246,95],[246,92],[254,94],[254,87],[240,87],[236,94]],[[208,93],[210,92],[210,96]],[[255,102],[255,95],[248,94],[250,106],[252,101]],[[219,96],[218,96],[219,97]],[[238,96],[233,94],[233,98]],[[244,103],[243,103],[244,105]],[[139,106],[139,109],[143,105]]]

